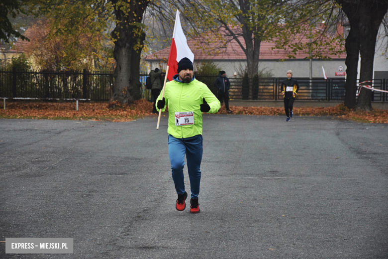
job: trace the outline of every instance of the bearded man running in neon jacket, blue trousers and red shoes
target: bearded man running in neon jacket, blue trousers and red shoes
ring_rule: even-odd
[[[183,167],[185,154],[190,178],[191,200],[190,212],[199,213],[198,194],[201,178],[200,164],[202,160],[202,112],[216,113],[220,108],[218,99],[205,84],[195,79],[193,62],[183,58],[178,62],[178,74],[173,81],[166,84],[161,100],[157,99],[158,112],[169,106],[168,144],[171,171],[175,189],[178,194],[176,209],[186,208]]]

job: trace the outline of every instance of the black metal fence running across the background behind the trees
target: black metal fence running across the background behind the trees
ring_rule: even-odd
[[[153,101],[151,91],[146,89],[148,75],[140,75],[142,97]],[[216,94],[216,76],[197,75]],[[285,78],[260,78],[243,84],[242,78],[229,78],[231,100],[281,100],[281,84]],[[300,89],[298,100],[342,101],[345,98],[345,79],[296,78]],[[77,72],[19,72],[0,71],[0,98],[36,99],[86,99],[108,101],[112,94],[113,74]],[[387,79],[373,80],[373,87],[387,90]],[[374,92],[372,101],[388,101],[388,94]]]

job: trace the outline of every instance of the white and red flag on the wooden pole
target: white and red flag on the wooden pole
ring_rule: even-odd
[[[183,58],[188,58],[194,63],[194,54],[187,44],[187,39],[185,33],[183,33],[181,20],[179,18],[179,10],[177,10],[173,41],[171,43],[169,60],[167,62],[167,65],[169,66],[167,78],[169,81],[173,81],[173,76],[178,74],[178,62]]]

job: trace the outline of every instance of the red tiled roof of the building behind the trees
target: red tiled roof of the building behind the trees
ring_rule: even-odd
[[[318,32],[318,29],[313,31],[315,33]],[[293,42],[301,42],[301,43],[307,43],[309,39],[307,39],[302,34],[297,34],[294,37]],[[240,45],[237,43],[236,40],[231,40],[227,45],[226,48],[220,48],[218,49],[218,53],[203,53],[202,48],[199,46],[201,45],[200,38],[193,38],[188,40],[188,45],[190,49],[194,53],[194,59],[196,60],[246,60],[246,55]],[[239,41],[242,43],[242,45],[245,48],[245,42],[242,37],[239,37]],[[218,44],[219,45],[219,44]],[[268,41],[262,41],[260,44],[260,60],[279,60],[279,59],[288,59],[287,54],[291,53],[291,50],[287,49],[272,49],[275,47],[276,43],[275,40],[268,40]],[[204,45],[202,45],[204,46]],[[216,43],[209,44],[210,48],[214,48],[216,46]],[[342,46],[342,49],[344,50],[344,46]],[[340,46],[337,47],[337,49],[340,49]],[[159,61],[159,60],[166,60],[168,59],[170,53],[170,48],[165,48],[160,51],[157,51],[153,54],[147,55],[144,60],[145,61]],[[296,59],[303,59],[308,56],[308,51],[298,51],[296,54],[294,54]],[[340,55],[330,55],[329,51],[323,50],[322,53],[332,59],[344,59],[346,57],[346,53],[342,53]]]

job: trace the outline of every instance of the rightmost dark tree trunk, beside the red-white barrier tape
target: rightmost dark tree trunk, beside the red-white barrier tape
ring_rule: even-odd
[[[388,1],[377,3],[376,0],[360,1],[360,44],[361,71],[360,82],[373,80],[373,64],[375,58],[376,37],[382,20],[387,13]],[[362,88],[356,110],[371,111],[372,92]]]

